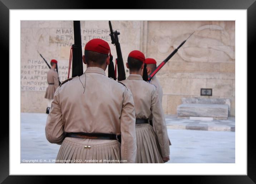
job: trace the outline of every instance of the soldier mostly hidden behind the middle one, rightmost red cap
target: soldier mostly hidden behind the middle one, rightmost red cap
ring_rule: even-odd
[[[148,72],[148,75],[150,75],[157,67],[157,62],[156,60],[154,60],[153,58],[146,58],[145,60],[145,63],[147,64],[147,72]],[[162,87],[156,77],[156,75],[154,75],[150,81],[151,84],[155,85],[157,87],[157,92],[158,92],[158,97],[160,99],[160,102],[162,104],[162,99],[163,99],[163,90],[162,90]],[[164,119],[165,121],[165,119]],[[154,125],[154,123],[153,123]],[[154,130],[155,130],[155,127],[153,127]],[[171,141],[169,139],[169,145],[172,145],[171,144]]]

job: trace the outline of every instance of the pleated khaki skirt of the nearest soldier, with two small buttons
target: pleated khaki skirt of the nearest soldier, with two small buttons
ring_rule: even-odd
[[[117,140],[66,137],[55,163],[120,163]]]

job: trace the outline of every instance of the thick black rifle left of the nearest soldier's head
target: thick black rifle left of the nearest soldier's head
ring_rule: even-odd
[[[83,72],[83,57],[82,57],[82,41],[80,21],[73,21],[74,25],[74,44],[72,45],[73,60],[72,60],[72,77],[80,76]]]

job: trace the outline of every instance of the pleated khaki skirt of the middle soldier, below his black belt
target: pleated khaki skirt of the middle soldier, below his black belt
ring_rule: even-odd
[[[150,124],[136,124],[136,139],[136,163],[163,163],[157,136]]]

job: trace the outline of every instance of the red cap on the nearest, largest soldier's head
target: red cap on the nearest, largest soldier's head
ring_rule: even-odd
[[[109,53],[109,55],[111,55],[108,42],[106,42],[102,39],[92,39],[92,40],[88,41],[84,47],[84,50],[99,52],[99,53],[103,53],[103,54],[107,54],[107,55]]]

